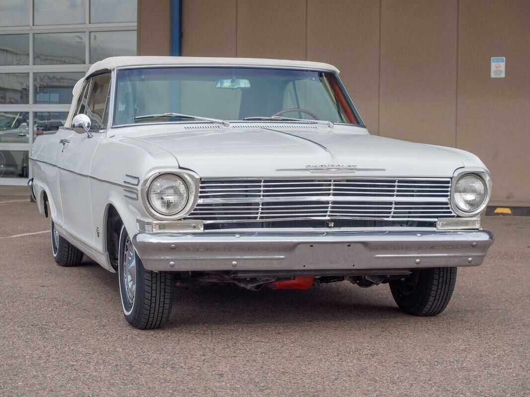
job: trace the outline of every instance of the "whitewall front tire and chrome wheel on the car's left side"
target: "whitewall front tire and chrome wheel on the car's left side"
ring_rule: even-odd
[[[171,312],[173,274],[145,269],[125,227],[120,231],[118,254],[120,297],[125,319],[138,329],[160,327]],[[131,264],[133,260],[131,255],[134,255],[134,269],[126,266],[126,261]],[[135,278],[134,292],[131,291],[133,288],[126,287],[126,283],[131,285],[132,277]]]

